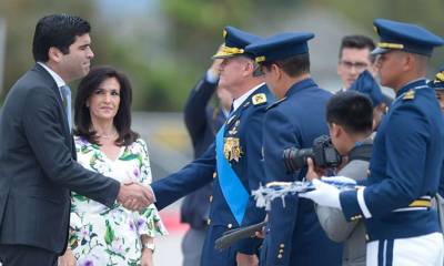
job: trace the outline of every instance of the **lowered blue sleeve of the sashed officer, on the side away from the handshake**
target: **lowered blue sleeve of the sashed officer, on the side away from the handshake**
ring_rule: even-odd
[[[254,114],[251,114],[250,120],[246,124],[249,132],[254,132],[254,134],[249,133],[245,137],[245,157],[246,168],[248,168],[248,190],[254,191],[258,190],[260,184],[264,184],[264,170],[263,170],[263,161],[262,161],[262,125],[264,119],[265,106],[255,108]],[[242,227],[258,224],[265,218],[265,211],[263,208],[256,207],[256,202],[253,196],[250,196],[245,215],[242,221]],[[259,246],[261,245],[262,239],[259,238],[248,238],[240,241],[238,243],[238,250],[243,254],[254,254]]]

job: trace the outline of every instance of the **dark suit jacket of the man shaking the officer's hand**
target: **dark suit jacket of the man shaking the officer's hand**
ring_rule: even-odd
[[[111,206],[119,183],[75,162],[59,88],[36,64],[10,90],[0,113],[0,244],[62,253],[70,190]]]

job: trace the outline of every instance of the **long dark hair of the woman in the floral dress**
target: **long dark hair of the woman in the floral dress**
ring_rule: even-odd
[[[98,89],[104,80],[110,78],[115,78],[120,84],[120,104],[113,121],[119,133],[115,144],[119,146],[128,146],[140,136],[137,132],[131,130],[131,83],[127,75],[108,65],[91,69],[88,75],[80,81],[74,104],[74,134],[87,139],[90,143],[99,145],[97,132],[91,126],[90,110],[87,108],[87,101],[94,90]]]

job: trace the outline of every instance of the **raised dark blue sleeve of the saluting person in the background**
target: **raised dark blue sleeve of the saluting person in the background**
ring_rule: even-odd
[[[213,95],[218,83],[212,83],[203,78],[191,91],[183,110],[184,121],[193,145],[203,137],[206,129],[206,106]]]

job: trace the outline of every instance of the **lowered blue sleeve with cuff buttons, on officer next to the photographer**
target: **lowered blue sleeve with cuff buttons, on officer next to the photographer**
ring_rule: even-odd
[[[296,130],[286,116],[275,109],[266,112],[263,129],[264,168],[268,182],[294,181],[293,175],[285,170],[282,153],[291,146],[300,147]],[[272,260],[269,262],[270,265],[287,265],[290,257],[284,250],[291,250],[294,221],[297,219],[297,196],[285,201],[285,207],[279,198],[272,203],[268,225],[270,232],[266,236],[266,257]]]

